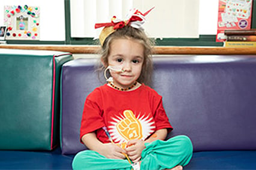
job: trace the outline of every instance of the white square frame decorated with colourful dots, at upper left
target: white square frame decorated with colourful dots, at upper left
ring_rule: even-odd
[[[28,5],[4,7],[5,40],[39,40],[40,8]]]

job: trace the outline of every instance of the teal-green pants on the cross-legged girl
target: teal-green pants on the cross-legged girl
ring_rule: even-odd
[[[192,157],[192,142],[180,135],[168,141],[154,141],[145,144],[141,154],[141,169],[166,169],[177,165],[185,166]],[[73,159],[73,169],[132,169],[128,160],[108,159],[96,151],[81,151]]]

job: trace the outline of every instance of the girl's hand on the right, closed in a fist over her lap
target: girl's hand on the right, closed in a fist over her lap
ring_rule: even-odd
[[[139,139],[134,139],[127,142],[126,152],[133,163],[139,162],[141,159],[141,153],[144,150],[144,142]]]

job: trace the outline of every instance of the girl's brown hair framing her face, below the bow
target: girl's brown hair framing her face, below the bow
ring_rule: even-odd
[[[109,35],[103,43],[100,51],[100,59],[105,64],[108,65],[108,56],[110,53],[110,45],[114,40],[125,38],[138,40],[144,46],[144,63],[142,65],[141,75],[138,78],[139,83],[144,83],[148,86],[151,84],[151,75],[153,72],[153,62],[152,53],[154,41],[147,37],[142,29],[136,29],[131,26],[124,26],[123,28],[117,29],[111,35]],[[104,65],[98,67],[97,70],[103,71],[105,69]]]

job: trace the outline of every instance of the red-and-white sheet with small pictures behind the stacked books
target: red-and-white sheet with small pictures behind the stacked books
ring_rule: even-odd
[[[226,29],[250,29],[253,0],[219,0],[216,42],[227,39]]]

